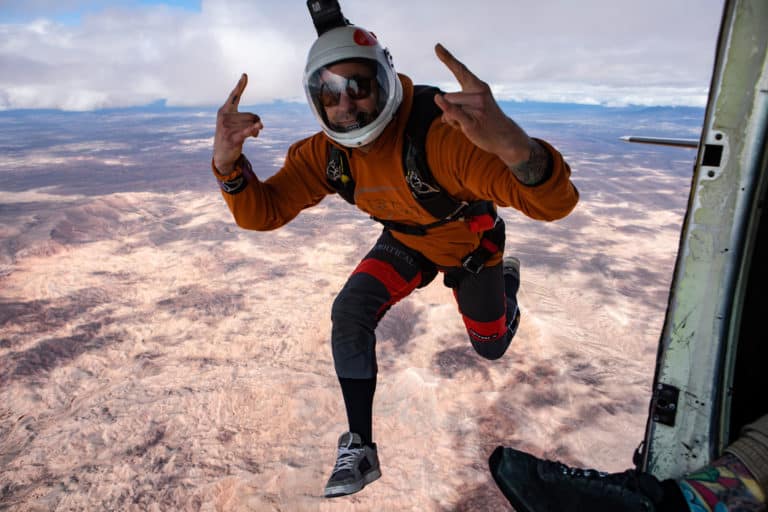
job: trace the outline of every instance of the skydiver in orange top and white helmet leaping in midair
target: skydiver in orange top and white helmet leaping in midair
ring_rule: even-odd
[[[313,44],[303,84],[322,131],[291,145],[269,179],[260,181],[242,153],[245,140],[264,128],[259,116],[238,111],[245,74],[217,114],[213,172],[239,226],[279,228],[325,196],[341,194],[334,179],[354,183],[349,199],[384,224],[332,306],[331,345],[349,431],[338,440],[326,497],[355,493],[381,475],[372,434],[374,331],[386,311],[441,272],[475,351],[501,357],[520,321],[520,276],[519,261],[503,258],[505,230],[496,207],[553,221],[578,201],[560,153],[507,117],[488,84],[442,45],[435,52],[461,91],[429,95],[441,121],[426,125],[423,145],[408,147],[426,152],[428,168],[452,201],[485,204],[484,211],[439,219],[425,209],[420,194],[426,197],[435,187],[425,179],[406,180],[403,169],[413,83],[395,72],[388,51],[364,28],[336,27]],[[339,154],[341,160],[332,158]],[[343,165],[351,172],[346,181],[339,174]]]

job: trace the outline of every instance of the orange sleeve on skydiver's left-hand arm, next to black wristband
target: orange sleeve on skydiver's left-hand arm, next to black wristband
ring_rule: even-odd
[[[326,158],[327,144],[314,136],[294,143],[283,167],[263,182],[244,155],[231,174],[223,176],[215,167],[213,173],[237,225],[269,231],[334,193],[325,180]]]

